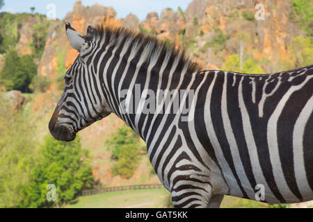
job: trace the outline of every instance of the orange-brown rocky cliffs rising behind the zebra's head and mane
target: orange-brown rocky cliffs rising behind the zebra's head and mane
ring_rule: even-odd
[[[253,18],[257,3],[264,5],[265,21]],[[227,56],[238,53],[237,42],[245,33],[249,40],[245,51],[249,51],[255,60],[271,60],[273,64],[264,70],[269,72],[276,71],[275,62],[290,60],[288,46],[295,36],[303,35],[298,25],[289,19],[291,10],[291,0],[193,0],[185,12],[166,8],[160,16],[157,12],[148,13],[140,23],[136,15],[115,19],[116,12],[111,7],[96,4],[86,8],[81,1],[77,1],[65,20],[70,21],[81,33],[86,32],[89,24],[103,24],[157,35],[160,39],[183,45],[188,49],[188,54],[205,67],[217,69],[223,67]],[[252,18],[245,18],[244,13],[250,13]],[[78,54],[70,47],[63,26],[62,21],[51,26],[45,53],[38,67],[38,73],[51,80],[58,76],[58,71],[68,69]],[[217,30],[230,36],[225,42],[225,49],[218,51],[218,55],[207,44],[218,35]],[[65,58],[62,58],[63,55]],[[64,65],[63,69],[60,68],[61,64]]]

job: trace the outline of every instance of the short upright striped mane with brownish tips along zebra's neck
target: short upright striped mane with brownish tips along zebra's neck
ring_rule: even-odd
[[[120,46],[129,46],[129,51],[133,56],[144,56],[144,64],[160,64],[163,60],[176,63],[176,71],[187,71],[188,73],[203,71],[198,62],[193,62],[186,56],[181,46],[168,44],[165,40],[159,40],[157,37],[143,33],[136,33],[130,29],[118,27],[112,28],[98,24],[93,32],[84,36],[88,41],[105,41],[107,44],[120,44]],[[159,63],[157,63],[159,62]],[[161,64],[160,64],[161,66]]]

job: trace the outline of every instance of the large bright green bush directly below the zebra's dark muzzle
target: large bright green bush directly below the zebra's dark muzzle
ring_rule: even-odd
[[[80,138],[59,142],[51,135],[45,137],[40,156],[30,175],[24,207],[57,207],[73,200],[83,187],[93,182],[90,157],[81,149]],[[47,200],[47,185],[56,186],[56,201]]]

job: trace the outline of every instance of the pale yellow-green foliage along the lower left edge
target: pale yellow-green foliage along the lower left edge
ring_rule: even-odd
[[[19,207],[36,159],[29,113],[15,112],[0,94],[0,208]]]

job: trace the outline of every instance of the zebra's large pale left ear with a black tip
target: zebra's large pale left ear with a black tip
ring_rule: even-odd
[[[70,41],[71,46],[77,51],[81,52],[84,49],[88,49],[89,42],[74,28],[72,28],[70,22],[66,22],[65,31],[67,38]]]

